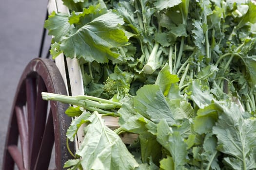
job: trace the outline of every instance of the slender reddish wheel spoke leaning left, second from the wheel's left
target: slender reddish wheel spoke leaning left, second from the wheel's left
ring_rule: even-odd
[[[17,124],[20,134],[20,144],[23,157],[24,168],[29,167],[29,146],[28,146],[28,129],[27,122],[23,110],[19,106],[15,106]]]

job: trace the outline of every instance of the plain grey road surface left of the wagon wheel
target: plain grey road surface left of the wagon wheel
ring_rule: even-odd
[[[21,73],[38,56],[47,0],[0,0],[0,168]]]

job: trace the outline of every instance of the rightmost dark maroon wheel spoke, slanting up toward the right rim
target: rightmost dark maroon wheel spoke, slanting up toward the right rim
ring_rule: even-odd
[[[54,145],[54,125],[53,125],[53,116],[50,110],[47,123],[45,126],[42,144],[39,150],[39,154],[37,157],[37,163],[34,170],[47,170],[50,160],[52,148]]]

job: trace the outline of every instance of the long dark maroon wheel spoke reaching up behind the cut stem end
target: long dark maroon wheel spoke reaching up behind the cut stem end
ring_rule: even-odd
[[[37,92],[37,101],[36,101],[36,109],[35,109],[35,122],[36,128],[34,129],[33,135],[33,144],[32,144],[32,152],[31,152],[31,167],[33,170],[37,161],[37,155],[39,153],[39,148],[41,146],[41,141],[43,138],[45,122],[47,117],[47,101],[43,101],[41,98],[41,92],[46,91],[46,86],[41,77],[38,78],[38,92]]]

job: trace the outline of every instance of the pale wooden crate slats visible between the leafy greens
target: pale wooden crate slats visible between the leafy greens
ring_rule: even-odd
[[[63,5],[62,0],[49,0],[47,8],[48,8],[49,14],[51,14],[53,11],[55,11],[56,13],[69,13],[68,8]],[[65,60],[67,63],[67,68],[65,68]],[[58,57],[56,57],[55,62],[65,82],[67,94],[69,95],[71,94],[72,96],[84,95],[84,87],[83,87],[82,73],[79,65],[79,60],[65,58],[63,53],[61,53]],[[66,75],[66,70],[68,72],[68,75]],[[69,81],[67,79],[69,79]],[[69,86],[68,82],[70,83],[71,91],[68,91],[68,86]],[[118,118],[111,117],[111,116],[103,116],[102,118],[105,120],[106,126],[108,126],[110,129],[114,130],[119,127]],[[83,136],[84,136],[83,129],[84,129],[84,125],[82,125],[79,128],[79,131],[77,134],[77,141],[76,141],[77,148],[79,148],[79,144],[83,140]],[[124,143],[129,144],[134,142],[134,140],[138,138],[138,135],[125,133],[120,135],[120,137]]]

